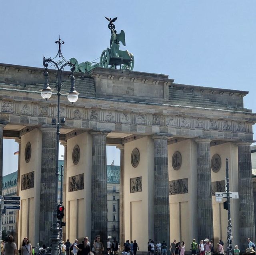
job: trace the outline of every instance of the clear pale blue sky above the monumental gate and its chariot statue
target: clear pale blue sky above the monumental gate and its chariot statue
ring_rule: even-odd
[[[109,46],[104,16],[118,16],[116,30],[126,33],[135,71],[168,74],[176,83],[250,91],[244,105],[256,112],[252,0],[2,1],[0,62],[42,67],[43,55],[56,54],[59,34],[66,58],[92,61]]]

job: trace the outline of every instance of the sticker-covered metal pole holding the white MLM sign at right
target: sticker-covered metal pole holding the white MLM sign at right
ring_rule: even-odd
[[[230,192],[229,192],[229,177],[228,177],[228,158],[226,158],[226,192],[227,192],[227,203],[228,203],[228,227],[227,227],[227,250],[228,254],[232,255],[232,225],[230,215]]]

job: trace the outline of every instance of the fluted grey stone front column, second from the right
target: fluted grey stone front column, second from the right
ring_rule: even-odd
[[[212,177],[210,139],[196,139],[197,143],[197,205],[198,239],[213,240]]]

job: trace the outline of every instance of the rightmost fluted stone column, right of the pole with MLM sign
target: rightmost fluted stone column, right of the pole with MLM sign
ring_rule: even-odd
[[[246,249],[248,244],[248,237],[250,237],[250,239],[255,242],[252,161],[250,145],[250,142],[240,142],[237,144],[240,238],[239,249],[241,251]]]

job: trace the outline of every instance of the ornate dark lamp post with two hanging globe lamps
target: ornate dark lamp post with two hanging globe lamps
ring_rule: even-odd
[[[70,61],[67,61],[61,52],[61,45],[64,44],[63,41],[57,40],[55,43],[58,43],[59,49],[58,49],[58,53],[56,54],[56,56],[54,58],[47,58],[44,57],[43,59],[43,65],[44,65],[44,87],[43,89],[40,89],[41,91],[41,96],[43,99],[49,99],[52,95],[52,91],[53,89],[50,88],[49,85],[49,74],[48,74],[48,65],[49,63],[51,64],[51,67],[54,67],[56,69],[56,89],[57,89],[57,96],[58,96],[58,115],[57,115],[57,131],[56,131],[56,172],[55,172],[55,194],[54,194],[54,212],[53,212],[53,224],[51,227],[51,231],[52,231],[52,236],[51,236],[51,240],[52,240],[52,255],[58,255],[58,244],[60,241],[60,235],[59,235],[59,231],[60,228],[57,224],[57,207],[58,207],[58,176],[59,176],[59,169],[58,169],[58,161],[59,161],[59,141],[60,141],[60,91],[62,89],[62,83],[61,83],[61,79],[62,79],[62,73],[64,71],[64,68],[66,66],[70,66],[70,70],[71,70],[71,77],[70,77],[70,81],[71,81],[71,87],[70,87],[70,91],[68,91],[68,93],[66,93],[68,95],[68,101],[70,101],[71,103],[74,103],[77,101],[78,99],[78,95],[79,93],[76,91],[75,89],[75,77],[74,77],[74,71],[75,71],[75,66],[74,64],[72,64]]]

